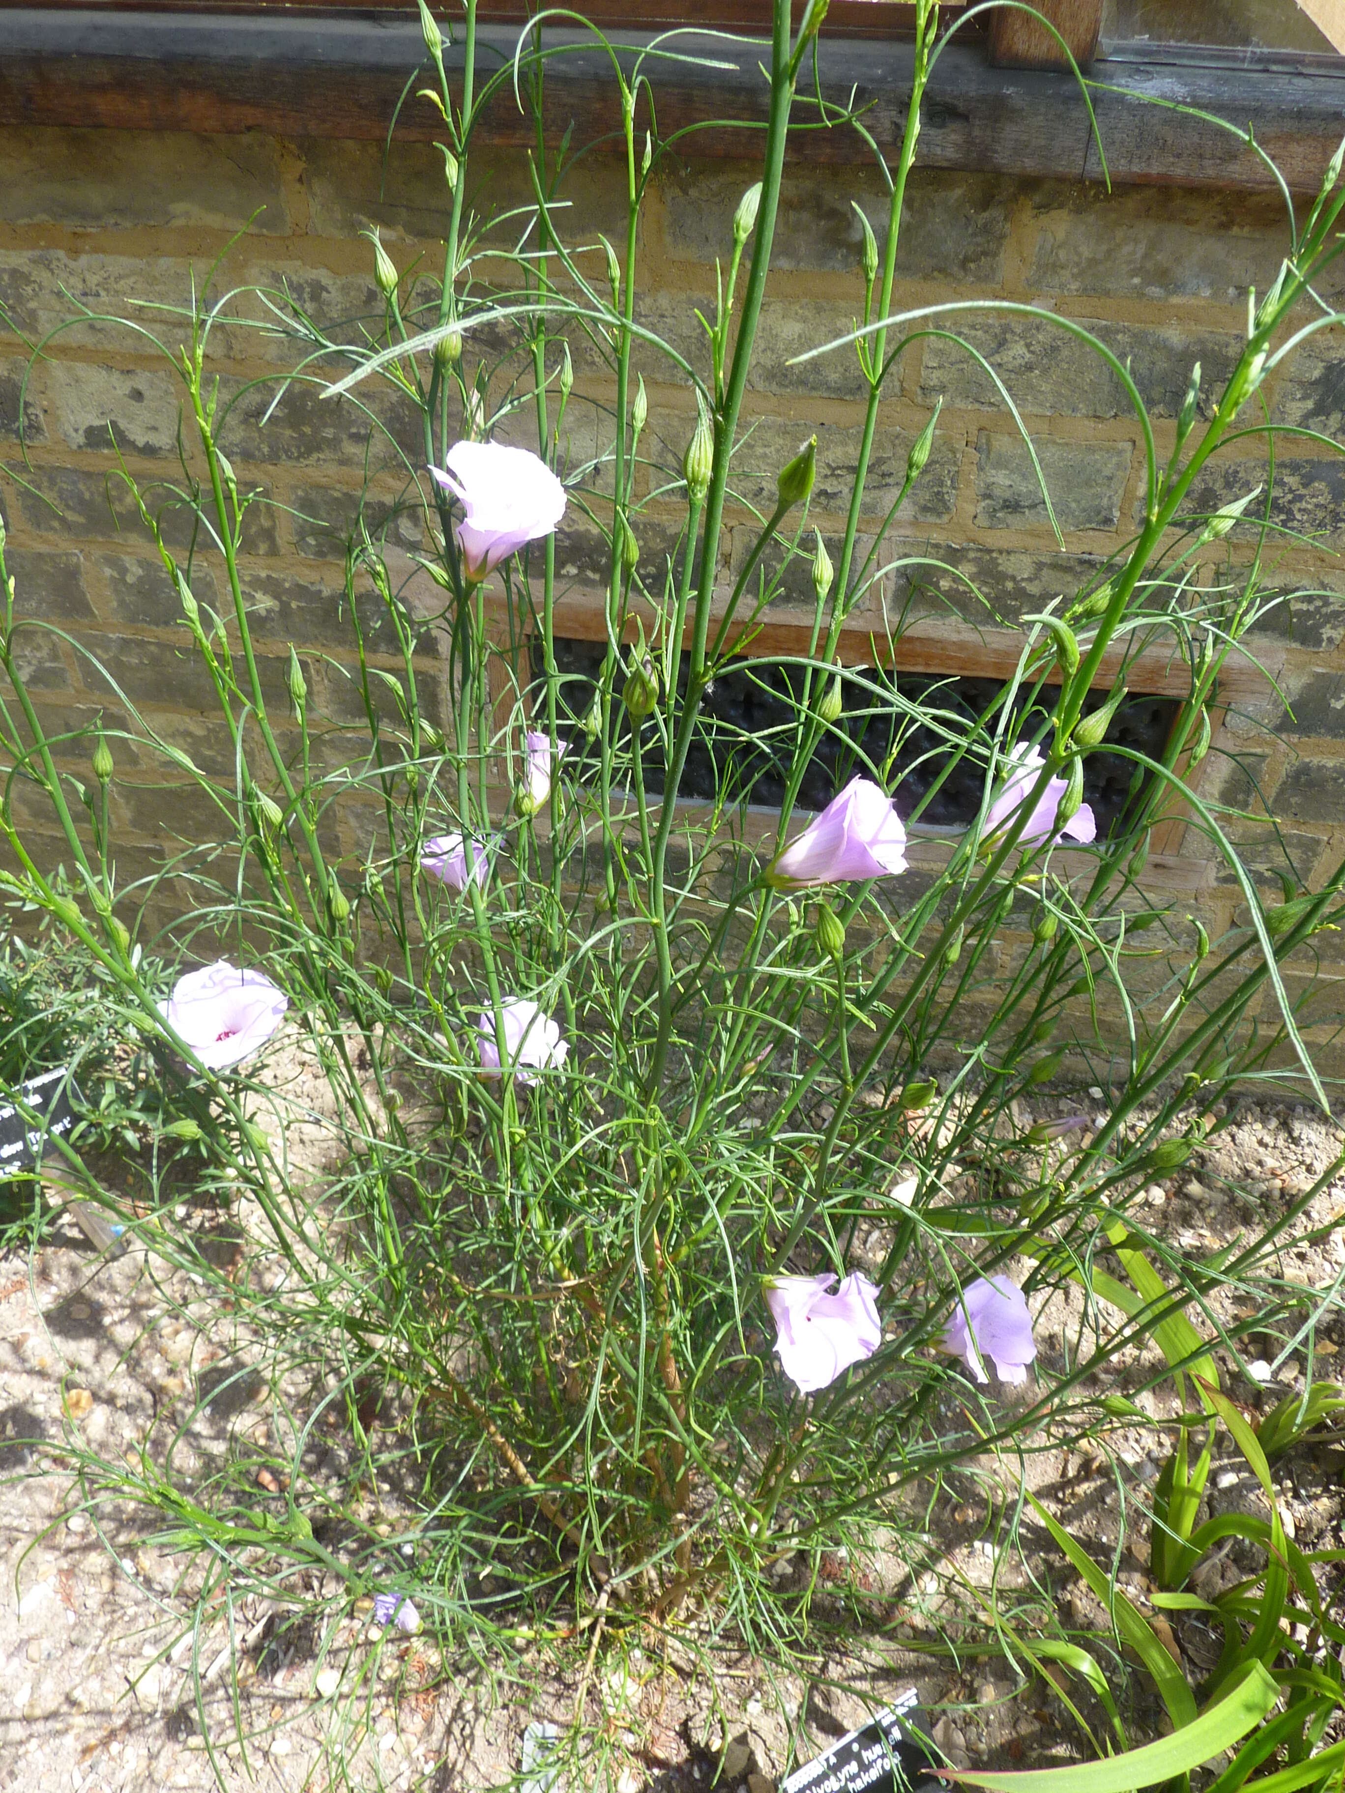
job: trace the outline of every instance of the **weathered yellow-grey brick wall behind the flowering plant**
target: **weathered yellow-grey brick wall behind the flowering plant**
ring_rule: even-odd
[[[525,167],[513,152],[490,151],[477,169],[477,204],[524,204]],[[640,238],[642,319],[662,330],[698,364],[703,333],[694,307],[714,296],[714,260],[726,253],[733,208],[751,181],[748,165],[678,165],[660,181]],[[219,762],[219,741],[203,714],[210,692],[183,651],[178,604],[152,545],[117,482],[118,457],[143,481],[181,481],[174,441],[181,389],[160,359],[126,330],[81,323],[56,337],[34,366],[22,398],[27,464],[20,454],[20,387],[27,342],[72,316],[129,312],[136,301],[185,305],[192,271],[224,256],[222,283],[289,285],[312,316],[351,321],[377,316],[371,251],[359,235],[378,224],[402,269],[425,258],[441,265],[443,165],[436,149],[398,147],[384,169],[371,143],[197,138],[118,131],[0,131],[0,459],[11,477],[0,504],[11,531],[11,568],[20,608],[59,622],[88,645],[143,705],[165,733]],[[624,176],[590,160],[567,197],[568,237],[595,242],[604,230],[620,240]],[[859,251],[863,206],[882,233],[886,201],[877,178],[855,170],[807,170],[789,178],[778,224],[775,273],[762,344],[748,398],[755,430],[741,454],[739,489],[748,500],[773,497],[778,466],[802,437],[818,434],[814,520],[839,534],[863,416],[852,351],[802,366],[789,359],[850,328],[863,303]],[[235,240],[237,237],[237,240]],[[918,307],[949,298],[1006,298],[1053,307],[1087,323],[1132,373],[1157,416],[1158,450],[1171,446],[1173,418],[1191,362],[1205,371],[1207,403],[1232,366],[1246,317],[1246,287],[1264,290],[1279,267],[1286,235],[1271,195],[1121,188],[1013,181],[981,174],[916,174],[898,262],[897,299]],[[594,260],[595,276],[601,260]],[[1345,280],[1334,292],[1341,299]],[[179,339],[172,316],[138,312],[145,328]],[[929,468],[902,509],[889,558],[929,554],[970,577],[994,606],[974,604],[949,570],[918,579],[893,574],[861,628],[882,604],[913,602],[918,615],[907,662],[967,672],[1002,663],[1004,624],[1071,588],[1114,552],[1135,525],[1142,455],[1135,420],[1119,382],[1081,346],[1019,319],[967,319],[965,333],[1006,380],[1033,434],[1046,470],[1063,550],[1056,547],[1026,450],[979,366],[936,337],[916,341],[888,387],[870,481],[872,529],[895,495],[911,439],[941,396],[943,412]],[[606,393],[603,369],[576,337],[576,398],[570,405],[572,455],[601,446],[597,412],[583,400]],[[215,342],[224,391],[237,400],[226,432],[240,481],[262,486],[267,506],[251,513],[244,577],[255,606],[264,678],[280,692],[291,642],[305,654],[314,701],[337,717],[350,714],[350,685],[319,654],[348,644],[339,622],[343,533],[359,493],[375,513],[404,489],[402,448],[418,461],[411,420],[386,396],[373,398],[389,437],[369,452],[368,420],[353,407],[321,402],[312,387],[291,387],[264,421],[283,346],[224,328]],[[472,344],[468,342],[468,355]],[[649,446],[671,466],[694,421],[685,382],[642,351],[649,382]],[[1345,434],[1345,357],[1340,330],[1323,332],[1270,389],[1275,418],[1336,441]],[[1218,504],[1264,477],[1255,443],[1218,464],[1202,500]],[[1280,448],[1275,518],[1286,533],[1271,545],[1271,585],[1307,586],[1313,595],[1277,611],[1254,647],[1273,681],[1250,662],[1228,680],[1228,710],[1202,769],[1202,791],[1248,803],[1270,823],[1232,823],[1255,866],[1275,888],[1277,864],[1291,864],[1309,886],[1345,852],[1345,461],[1323,441],[1286,437]],[[640,524],[642,565],[658,561],[672,513],[651,504]],[[181,513],[169,522],[181,540]],[[176,531],[176,534],[174,534]],[[1302,540],[1302,538],[1307,540]],[[418,543],[402,518],[391,540]],[[746,527],[726,545],[726,567],[746,552]],[[1245,550],[1234,549],[1234,558]],[[570,524],[561,541],[561,601],[570,617],[592,604],[603,550]],[[1218,563],[1203,577],[1214,577]],[[213,585],[212,585],[213,577]],[[913,586],[924,588],[915,592]],[[798,590],[793,586],[791,590]],[[219,602],[217,572],[203,568],[199,595]],[[933,595],[938,593],[938,595]],[[787,624],[789,597],[775,620]],[[924,644],[924,645],[922,645]],[[375,649],[391,644],[375,640]],[[1010,644],[1011,647],[1011,644]],[[104,676],[72,642],[30,637],[34,687],[48,719],[77,728],[99,708],[117,714]],[[852,649],[863,658],[863,635]],[[995,658],[999,656],[999,658]],[[387,662],[389,665],[395,662]],[[1162,654],[1150,663],[1155,689],[1166,680]],[[425,662],[432,680],[432,653]],[[161,791],[117,785],[120,857],[147,862],[190,837],[201,821]],[[1227,925],[1237,891],[1194,830],[1169,827],[1155,843],[1155,889],[1171,893],[1180,914],[1202,913]],[[1286,861],[1288,855],[1288,861]],[[1331,936],[1327,936],[1331,940]],[[1325,952],[1340,948],[1327,945]],[[1323,1026],[1338,986],[1320,999]]]

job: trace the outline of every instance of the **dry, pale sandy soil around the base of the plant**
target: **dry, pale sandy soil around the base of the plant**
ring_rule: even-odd
[[[1155,1234],[1209,1253],[1282,1212],[1336,1149],[1336,1130],[1311,1112],[1248,1103],[1205,1158],[1155,1185],[1139,1212]],[[1345,1180],[1298,1217],[1279,1264],[1284,1278],[1325,1291],[1345,1275],[1341,1214]],[[1309,1243],[1309,1234],[1318,1237]],[[1255,1318],[1239,1316],[1236,1300],[1227,1311],[1214,1305],[1225,1321]],[[1044,1368],[1065,1366],[1076,1323],[1062,1298],[1038,1314]],[[1282,1343],[1252,1332],[1245,1357],[1254,1375],[1241,1375],[1225,1357],[1225,1386],[1250,1409],[1271,1404],[1302,1386],[1307,1343],[1277,1363]],[[1338,1377],[1345,1357],[1340,1311],[1311,1345],[1316,1375]],[[68,1219],[32,1260],[0,1257],[0,1788],[204,1789],[217,1777],[226,1786],[323,1788],[339,1784],[332,1768],[341,1761],[350,1775],[344,1784],[360,1789],[479,1793],[516,1777],[524,1725],[570,1716],[577,1666],[567,1678],[554,1657],[540,1655],[534,1684],[520,1700],[441,1655],[429,1633],[384,1632],[368,1612],[343,1612],[335,1603],[321,1617],[323,1594],[334,1589],[325,1590],[317,1572],[291,1589],[319,1614],[310,1626],[278,1632],[280,1608],[247,1596],[231,1612],[217,1605],[195,1633],[195,1583],[183,1581],[181,1562],[151,1542],[160,1520],[129,1504],[100,1508],[97,1522],[79,1510],[72,1447],[108,1461],[136,1460],[151,1427],[185,1422],[203,1399],[208,1404],[183,1449],[226,1451],[230,1440],[235,1449],[251,1440],[265,1451],[271,1408],[256,1406],[246,1379],[221,1386],[222,1347],[204,1289],[165,1278],[136,1248],[100,1257]],[[1115,1375],[1115,1390],[1135,1386],[1142,1356],[1117,1363]],[[1157,1420],[1167,1416],[1158,1391],[1141,1404]],[[1162,1433],[1135,1427],[1112,1443],[1112,1461],[1042,1449],[1024,1465],[1024,1479],[1103,1560],[1117,1544],[1123,1497],[1133,1524],[1132,1495],[1142,1497],[1158,1474]],[[328,1458],[328,1472],[339,1477],[339,1442]],[[1042,1533],[1024,1526],[1024,1551],[1004,1547],[1004,1508],[995,1499],[1002,1470],[992,1468],[970,1472],[934,1504],[931,1560],[918,1574],[881,1551],[866,1562],[839,1553],[823,1558],[820,1646],[809,1660],[771,1666],[721,1650],[710,1676],[698,1666],[705,1639],[694,1628],[671,1644],[629,1633],[610,1639],[586,1682],[586,1714],[613,1750],[610,1788],[708,1788],[723,1764],[721,1786],[769,1793],[791,1763],[809,1759],[907,1685],[918,1687],[954,1761],[1047,1766],[1078,1759],[1078,1730],[1053,1689],[1015,1675],[988,1632],[977,1637],[961,1628],[992,1599],[1010,1608],[1029,1578],[1049,1581],[1067,1623],[1099,1619]],[[1277,1477],[1297,1542],[1318,1551],[1345,1546],[1340,1449],[1295,1451]],[[258,1506],[265,1499],[260,1488]],[[1257,1510],[1261,1495],[1227,1456],[1209,1499],[1216,1511]],[[395,1546],[407,1520],[391,1494],[384,1515]],[[802,1571],[782,1563],[777,1572]],[[1243,1572],[1230,1551],[1202,1571],[1198,1590],[1212,1594]],[[1142,1603],[1142,1526],[1128,1535],[1119,1580]],[[846,1619],[839,1598],[846,1585],[861,1590],[872,1614],[863,1633]],[[1325,1590],[1340,1610],[1340,1583]],[[237,1680],[230,1623],[244,1662]],[[852,1641],[841,1646],[836,1639],[846,1630]],[[949,1630],[961,1637],[956,1660],[927,1648]],[[1198,1623],[1176,1624],[1171,1637],[1196,1680],[1210,1666],[1212,1639]],[[1142,1693],[1132,1716],[1141,1730],[1157,1727]],[[217,1750],[213,1761],[206,1737]]]

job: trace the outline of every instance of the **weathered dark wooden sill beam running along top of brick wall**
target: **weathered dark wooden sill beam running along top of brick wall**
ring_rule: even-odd
[[[482,52],[509,57],[516,29],[486,25]],[[963,34],[967,38],[968,34]],[[954,39],[938,61],[920,133],[920,163],[999,174],[1098,179],[1089,118],[1072,75],[1051,70],[990,68],[977,39]],[[545,129],[556,138],[610,133],[613,72],[581,32],[549,32],[572,45],[552,59],[545,88]],[[642,32],[619,39],[624,59],[647,47]],[[687,36],[678,48],[694,52]],[[760,45],[723,38],[699,45],[721,66],[689,61],[646,65],[658,88],[665,136],[694,129],[687,156],[753,154],[766,120]],[[1133,54],[1133,52],[1132,52]],[[906,127],[913,47],[900,39],[827,39],[820,45],[823,93],[854,100],[879,149],[898,152]],[[461,50],[452,50],[448,66]],[[282,136],[382,142],[407,75],[423,61],[420,23],[405,14],[317,14],[273,9],[228,13],[50,11],[0,7],[0,117],[11,126],[82,126],[129,131],[269,131]],[[1191,113],[1144,106],[1153,93],[1169,106],[1194,108],[1252,126],[1279,161],[1291,190],[1315,194],[1340,142],[1345,117],[1345,61],[1284,57],[1255,66],[1210,52],[1164,48],[1162,61],[1108,59],[1098,118],[1114,181],[1266,188],[1261,158],[1218,126]],[[816,113],[800,102],[807,126]],[[741,120],[723,124],[721,120]],[[423,100],[407,100],[398,138],[430,142],[443,122]],[[486,113],[479,143],[531,145],[533,129],[502,91]],[[802,129],[791,140],[798,163],[866,163],[868,145],[854,131]]]

